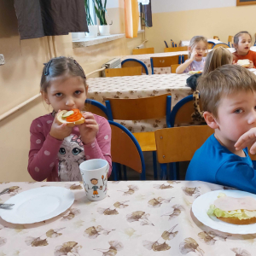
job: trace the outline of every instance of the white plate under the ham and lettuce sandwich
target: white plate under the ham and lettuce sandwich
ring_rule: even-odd
[[[204,195],[197,197],[192,205],[192,212],[202,224],[207,225],[208,227],[219,230],[222,232],[230,233],[230,234],[255,234],[256,233],[256,224],[248,224],[248,225],[236,225],[229,224],[224,221],[219,220],[218,218],[210,218],[207,215],[207,211],[211,204],[217,199],[219,193],[224,193],[225,195],[232,197],[244,197],[251,196],[256,200],[256,195],[239,191],[239,190],[216,190],[212,192],[208,192]]]

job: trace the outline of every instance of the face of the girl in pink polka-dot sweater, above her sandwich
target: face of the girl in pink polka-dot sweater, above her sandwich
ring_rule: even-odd
[[[61,76],[50,81],[47,93],[43,92],[44,101],[58,110],[84,109],[87,89],[81,77]]]

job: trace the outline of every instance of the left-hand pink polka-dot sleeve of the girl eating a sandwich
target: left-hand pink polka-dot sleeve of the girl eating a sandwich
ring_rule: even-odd
[[[43,124],[35,119],[30,127],[30,151],[27,171],[36,181],[43,181],[58,165],[58,152],[62,141],[44,136]]]

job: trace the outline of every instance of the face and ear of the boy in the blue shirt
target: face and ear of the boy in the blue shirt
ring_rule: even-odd
[[[242,134],[256,127],[256,92],[240,91],[225,96],[218,107],[218,137],[236,143]]]

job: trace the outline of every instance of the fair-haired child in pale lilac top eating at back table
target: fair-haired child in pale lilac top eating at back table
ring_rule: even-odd
[[[207,45],[205,37],[195,36],[192,38],[189,43],[189,59],[177,67],[176,73],[203,70]]]

